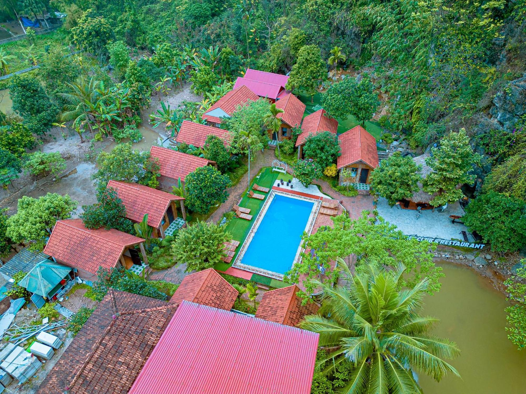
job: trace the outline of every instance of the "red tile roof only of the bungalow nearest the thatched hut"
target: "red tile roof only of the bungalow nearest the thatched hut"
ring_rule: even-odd
[[[361,126],[353,127],[338,136],[341,155],[338,157],[338,169],[349,164],[363,161],[369,167],[378,167],[376,139]]]

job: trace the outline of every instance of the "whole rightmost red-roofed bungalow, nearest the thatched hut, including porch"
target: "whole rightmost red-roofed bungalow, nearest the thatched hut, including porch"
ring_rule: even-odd
[[[338,136],[341,155],[337,168],[340,172],[340,184],[353,183],[359,188],[369,189],[369,174],[378,167],[376,139],[361,126],[353,127]],[[350,173],[342,176],[343,169]],[[343,174],[345,175],[345,174]]]

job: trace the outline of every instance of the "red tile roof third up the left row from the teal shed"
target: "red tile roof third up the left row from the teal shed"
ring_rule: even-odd
[[[199,167],[215,163],[191,154],[155,146],[151,147],[150,155],[158,159],[161,175],[172,179],[181,178],[183,182],[186,175],[190,172],[194,172]]]

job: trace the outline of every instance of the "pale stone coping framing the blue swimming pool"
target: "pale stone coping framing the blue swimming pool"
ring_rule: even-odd
[[[304,197],[304,196],[300,196],[296,194],[291,194],[291,193],[286,193],[282,191],[271,190],[270,194],[267,197],[267,200],[265,201],[265,203],[263,204],[261,208],[261,211],[259,211],[258,217],[254,221],[254,224],[252,224],[252,228],[250,229],[245,239],[245,242],[241,246],[241,249],[239,250],[239,253],[237,254],[236,260],[234,260],[234,263],[232,263],[232,267],[244,269],[245,271],[249,271],[255,274],[259,274],[259,275],[268,276],[274,279],[278,279],[279,281],[282,281],[284,278],[283,274],[241,263],[241,261],[243,260],[243,256],[245,255],[245,252],[247,251],[248,246],[250,245],[250,242],[254,238],[254,235],[256,234],[256,231],[258,230],[258,227],[261,224],[261,221],[263,220],[263,217],[265,216],[265,213],[267,212],[270,203],[272,202],[272,200],[274,200],[274,197],[276,195],[282,195],[288,198],[297,199],[297,200],[305,200],[305,201],[314,203],[312,206],[312,210],[310,211],[309,219],[307,220],[307,225],[305,226],[305,232],[307,234],[310,235],[310,233],[312,232],[312,227],[314,226],[314,223],[316,222],[316,217],[318,216],[318,212],[320,210],[321,200],[312,199],[312,198],[308,198],[308,197]],[[296,256],[294,257],[294,260],[292,260],[292,264],[290,267],[294,266],[294,264],[298,262],[298,257],[301,253],[302,248],[303,248],[303,242],[300,240],[299,245],[298,245],[298,250],[296,251]],[[271,258],[271,253],[273,252],[269,250],[268,256],[262,256],[262,258]]]

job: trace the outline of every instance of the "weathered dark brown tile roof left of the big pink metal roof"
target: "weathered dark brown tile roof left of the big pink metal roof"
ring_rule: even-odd
[[[110,289],[37,394],[127,393],[176,308]]]

